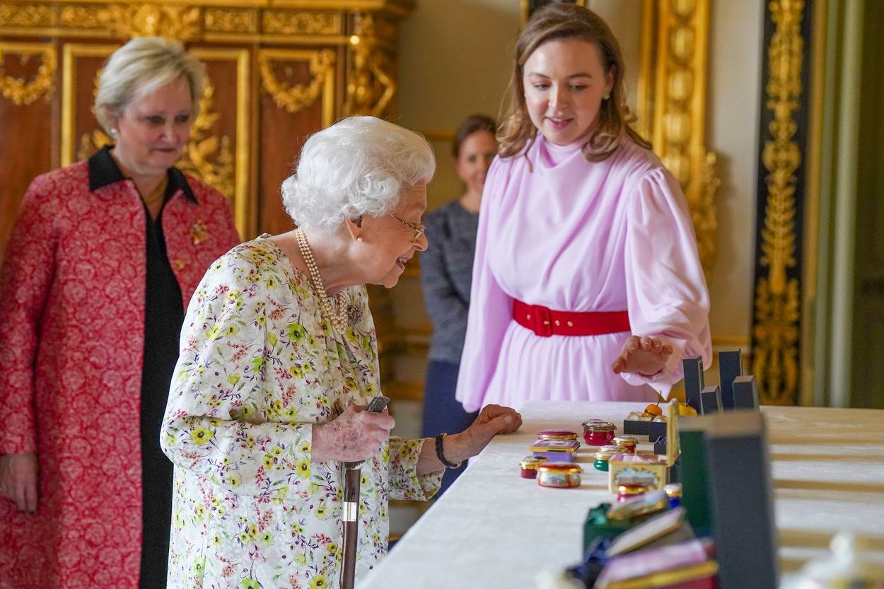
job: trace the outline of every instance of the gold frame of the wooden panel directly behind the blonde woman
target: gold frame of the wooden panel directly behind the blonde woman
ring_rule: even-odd
[[[118,49],[117,45],[89,45],[66,43],[62,50],[62,103],[61,103],[61,165],[74,161],[74,113],[76,96],[77,57],[108,57]],[[249,92],[249,55],[247,49],[194,49],[194,56],[202,61],[236,62],[236,154],[234,156],[234,191],[232,196],[233,222],[240,236],[255,233],[256,219],[249,199],[249,159],[251,147],[248,138],[251,97]]]

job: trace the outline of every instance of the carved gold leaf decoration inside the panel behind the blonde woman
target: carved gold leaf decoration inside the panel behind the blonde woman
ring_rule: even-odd
[[[233,151],[230,137],[213,134],[214,126],[221,117],[214,112],[215,87],[207,76],[200,98],[200,114],[190,127],[190,138],[178,164],[182,172],[199,178],[217,189],[222,195],[232,196],[234,191]],[[101,130],[83,134],[80,138],[79,159],[86,159],[96,149],[112,143]]]

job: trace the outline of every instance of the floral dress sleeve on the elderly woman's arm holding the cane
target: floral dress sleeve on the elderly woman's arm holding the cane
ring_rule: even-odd
[[[237,250],[219,258],[194,293],[160,446],[172,463],[234,493],[285,498],[308,484],[312,425],[262,414],[272,370],[265,342],[277,336],[266,329],[270,277],[245,258]],[[297,415],[298,402],[271,409]]]

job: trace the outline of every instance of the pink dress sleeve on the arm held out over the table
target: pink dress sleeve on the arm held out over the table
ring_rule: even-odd
[[[624,373],[631,385],[652,383],[666,396],[682,379],[682,357],[712,359],[709,291],[682,188],[664,168],[646,172],[630,196],[625,247],[632,333],[658,337],[674,352],[657,374]]]

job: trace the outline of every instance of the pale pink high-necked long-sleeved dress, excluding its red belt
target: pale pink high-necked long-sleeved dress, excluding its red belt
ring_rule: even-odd
[[[474,411],[535,399],[655,400],[709,364],[709,294],[682,189],[650,150],[624,140],[602,162],[579,143],[538,136],[496,159],[485,182],[457,399]],[[631,333],[674,354],[652,376],[614,374],[629,332],[544,337],[513,320],[513,301],[551,310],[629,312]]]

